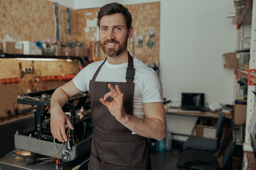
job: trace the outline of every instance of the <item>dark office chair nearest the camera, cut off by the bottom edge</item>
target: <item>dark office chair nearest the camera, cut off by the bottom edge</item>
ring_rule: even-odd
[[[222,169],[230,169],[230,159],[233,155],[235,144],[233,141],[228,145],[228,149],[223,152]],[[217,157],[213,153],[203,152],[193,149],[187,149],[181,152],[176,164],[178,169],[185,170],[219,170],[220,164],[218,164]]]

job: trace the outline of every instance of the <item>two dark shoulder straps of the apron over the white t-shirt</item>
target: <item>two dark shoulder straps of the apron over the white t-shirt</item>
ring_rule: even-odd
[[[95,72],[94,76],[92,77],[92,81],[95,81],[97,74],[99,74],[100,69],[102,68],[103,64],[106,62],[106,59],[104,60],[104,62],[102,62],[102,64],[100,64],[100,67],[97,69],[97,71]],[[134,80],[134,74],[135,74],[135,69],[134,69],[134,62],[133,62],[133,58],[132,56],[129,54],[128,52],[128,67],[127,67],[127,72],[126,72],[126,77],[125,79],[127,79],[127,82],[133,82]]]

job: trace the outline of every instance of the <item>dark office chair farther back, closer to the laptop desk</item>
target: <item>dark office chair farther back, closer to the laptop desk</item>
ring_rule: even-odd
[[[220,138],[221,132],[223,128],[223,122],[225,120],[225,114],[223,112],[220,113],[216,126],[216,135],[217,139],[209,139],[206,137],[196,137],[190,136],[188,140],[183,143],[183,149],[197,149],[206,152],[217,152],[220,147]]]

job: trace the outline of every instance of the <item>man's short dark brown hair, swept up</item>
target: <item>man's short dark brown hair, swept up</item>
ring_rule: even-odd
[[[127,29],[131,28],[132,26],[132,15],[129,13],[128,9],[124,7],[122,4],[118,4],[116,2],[106,4],[100,8],[100,11],[97,15],[97,25],[100,27],[100,20],[103,16],[112,15],[114,13],[122,13],[124,16],[124,22],[127,25]]]

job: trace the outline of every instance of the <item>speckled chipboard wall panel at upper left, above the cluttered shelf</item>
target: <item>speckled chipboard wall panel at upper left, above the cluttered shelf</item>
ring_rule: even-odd
[[[71,10],[75,15],[75,11]],[[54,4],[41,0],[0,1],[0,40],[7,34],[16,40],[55,41]],[[73,17],[75,26],[76,18]],[[59,5],[60,40],[68,41],[66,7]],[[74,33],[75,33],[74,28]],[[70,38],[72,39],[72,37]]]

